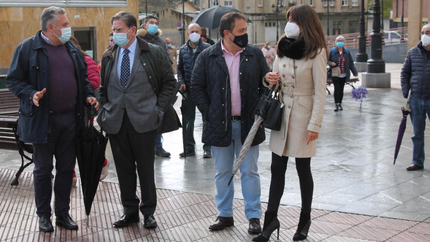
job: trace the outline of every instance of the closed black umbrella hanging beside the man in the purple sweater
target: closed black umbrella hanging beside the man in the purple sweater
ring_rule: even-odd
[[[90,109],[88,109],[87,117],[90,117],[89,112]],[[107,145],[108,137],[103,135],[103,129],[98,131],[89,123],[89,120],[88,126],[82,128],[81,133],[76,138],[76,156],[81,176],[87,224],[91,205],[102,174]]]

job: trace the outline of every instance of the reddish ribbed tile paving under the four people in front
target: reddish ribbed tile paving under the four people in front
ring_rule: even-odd
[[[122,215],[118,184],[100,182],[91,209],[90,222],[86,215],[80,180],[72,189],[71,216],[79,230],[55,228],[52,233],[39,232],[34,205],[33,177],[29,172],[21,175],[20,185],[11,186],[16,171],[0,169],[0,239],[11,242],[78,241],[78,242],[226,242],[251,241],[243,214],[243,201],[235,199],[235,226],[212,232],[208,225],[216,217],[215,198],[188,192],[157,189],[158,206],[155,218],[158,228],[145,229],[143,223],[124,228],[112,227]],[[139,188],[138,188],[139,190]],[[139,191],[138,191],[139,192]],[[263,203],[263,211],[266,204]],[[299,220],[300,209],[281,206],[280,240],[291,241]],[[271,241],[276,241],[272,235]],[[427,222],[397,220],[314,209],[307,241],[324,242],[430,242],[430,224]]]

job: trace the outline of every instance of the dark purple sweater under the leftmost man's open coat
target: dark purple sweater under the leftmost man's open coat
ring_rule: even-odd
[[[72,112],[75,110],[78,85],[75,65],[64,44],[52,45],[43,42],[49,57],[49,88],[47,97],[49,111]]]

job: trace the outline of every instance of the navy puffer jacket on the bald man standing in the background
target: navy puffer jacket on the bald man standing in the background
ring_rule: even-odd
[[[191,85],[191,74],[193,73],[195,60],[197,60],[198,55],[204,49],[210,47],[211,45],[208,43],[204,43],[202,39],[198,41],[198,47],[193,53],[193,47],[190,45],[190,40],[187,41],[187,44],[182,45],[179,50],[179,58],[178,58],[178,81],[181,85],[186,85],[186,90],[190,90]]]

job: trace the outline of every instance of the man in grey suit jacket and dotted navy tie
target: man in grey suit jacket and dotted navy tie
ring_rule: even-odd
[[[97,122],[109,135],[124,207],[124,215],[113,225],[139,222],[140,208],[144,227],[155,228],[155,137],[170,119],[163,117],[172,109],[176,79],[165,51],[136,37],[137,20],[131,13],[119,12],[110,22],[115,44],[102,57]]]

